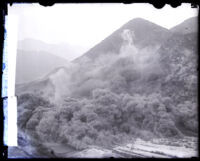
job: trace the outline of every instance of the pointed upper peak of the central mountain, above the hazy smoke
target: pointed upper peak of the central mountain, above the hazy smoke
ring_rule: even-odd
[[[93,61],[106,54],[117,55],[122,45],[128,42],[132,43],[138,49],[144,47],[156,48],[170,35],[171,32],[166,28],[142,18],[135,18],[91,48],[83,56],[75,59],[74,62],[77,61],[80,63],[79,60],[81,59],[90,59]]]

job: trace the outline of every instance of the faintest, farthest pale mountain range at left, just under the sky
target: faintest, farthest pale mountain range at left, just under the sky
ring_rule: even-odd
[[[50,44],[35,39],[24,39],[19,41],[18,49],[35,52],[43,51],[67,59],[68,61],[80,56],[87,50],[81,46],[70,45],[67,43]]]

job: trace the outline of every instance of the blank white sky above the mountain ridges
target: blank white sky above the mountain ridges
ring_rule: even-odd
[[[141,17],[171,28],[187,18],[197,16],[190,4],[178,8],[151,4],[13,4],[9,14],[18,15],[18,39],[33,38],[48,43],[69,43],[91,48],[129,20]]]

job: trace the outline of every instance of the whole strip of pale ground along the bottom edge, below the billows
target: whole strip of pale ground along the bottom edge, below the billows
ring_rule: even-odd
[[[97,146],[77,151],[69,146],[57,143],[46,143],[49,147],[47,156],[29,154],[32,147],[9,147],[8,158],[191,158],[198,156],[197,138],[137,139],[134,144],[116,145],[113,149]]]

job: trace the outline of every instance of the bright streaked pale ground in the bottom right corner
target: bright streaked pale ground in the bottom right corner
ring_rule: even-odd
[[[137,139],[133,144],[129,143],[124,146],[114,148],[115,152],[142,158],[190,158],[197,157],[197,140],[192,137],[184,139],[154,139],[144,141]]]

